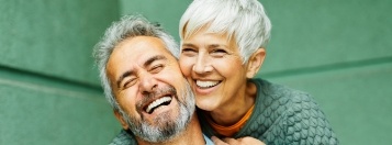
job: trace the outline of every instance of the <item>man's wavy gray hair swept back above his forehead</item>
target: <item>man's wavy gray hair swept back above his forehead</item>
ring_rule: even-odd
[[[124,40],[136,36],[154,36],[160,38],[166,48],[175,56],[179,56],[179,47],[176,41],[166,33],[158,24],[150,23],[142,15],[125,15],[120,21],[113,22],[105,31],[103,37],[94,47],[93,56],[98,65],[101,85],[107,100],[112,108],[120,109],[112,91],[110,79],[107,75],[107,64],[113,49]]]

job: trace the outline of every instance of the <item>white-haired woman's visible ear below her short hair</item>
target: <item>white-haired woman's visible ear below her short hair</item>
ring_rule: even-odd
[[[255,77],[255,75],[257,74],[257,71],[259,71],[262,65],[264,58],[266,58],[265,48],[259,48],[254,54],[251,54],[247,65],[247,71],[246,71],[247,78]]]

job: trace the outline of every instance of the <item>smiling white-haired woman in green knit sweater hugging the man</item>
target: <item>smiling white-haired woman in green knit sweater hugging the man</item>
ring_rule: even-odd
[[[271,24],[257,0],[194,0],[180,20],[181,71],[204,134],[267,144],[338,144],[307,93],[253,79]]]

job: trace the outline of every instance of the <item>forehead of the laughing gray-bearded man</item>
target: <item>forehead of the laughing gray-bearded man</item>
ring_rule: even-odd
[[[107,71],[110,76],[116,76],[135,65],[142,66],[148,58],[156,55],[173,58],[164,42],[157,37],[136,36],[126,38],[113,49],[108,60]]]

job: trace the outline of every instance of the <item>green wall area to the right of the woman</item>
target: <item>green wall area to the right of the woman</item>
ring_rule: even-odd
[[[392,1],[262,2],[273,27],[259,77],[313,94],[341,144],[391,144]]]

